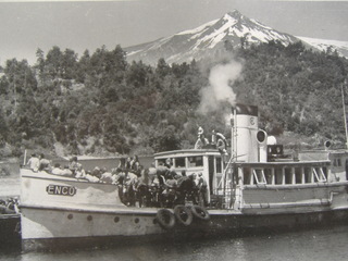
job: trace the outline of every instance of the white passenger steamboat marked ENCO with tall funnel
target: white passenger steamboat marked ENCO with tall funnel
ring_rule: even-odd
[[[159,169],[201,173],[207,202],[129,206],[115,184],[21,169],[24,251],[104,246],[138,240],[238,236],[346,224],[348,151],[302,151],[287,157],[259,128],[254,105],[231,111],[231,151],[217,147],[154,154]]]

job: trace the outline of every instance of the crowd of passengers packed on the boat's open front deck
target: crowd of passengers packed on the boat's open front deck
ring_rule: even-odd
[[[35,172],[75,177],[91,183],[105,183],[119,186],[119,196],[126,206],[166,207],[183,204],[187,200],[197,204],[207,206],[207,182],[201,173],[186,175],[183,171],[177,173],[167,159],[154,167],[144,167],[137,156],[121,158],[119,165],[110,171],[96,166],[91,171],[84,170],[77,157],[72,157],[70,163],[54,166],[45,159],[44,154],[32,154],[27,165]]]

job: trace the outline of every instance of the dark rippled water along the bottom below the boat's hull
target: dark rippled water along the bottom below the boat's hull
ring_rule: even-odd
[[[347,260],[348,226],[272,236],[223,238],[55,253],[2,253],[3,261]]]

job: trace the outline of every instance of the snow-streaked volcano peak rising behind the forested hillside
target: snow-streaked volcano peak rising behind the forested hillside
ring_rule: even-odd
[[[215,55],[228,47],[235,48],[270,40],[288,45],[299,39],[248,18],[234,10],[222,18],[211,21],[197,28],[184,30],[152,42],[125,48],[125,51],[128,61],[142,60],[145,63],[156,64],[160,58],[164,58],[171,64]]]

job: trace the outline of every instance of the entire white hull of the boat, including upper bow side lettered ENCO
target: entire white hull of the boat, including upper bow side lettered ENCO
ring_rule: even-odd
[[[208,209],[209,221],[194,219],[187,226],[176,221],[172,228],[165,229],[157,220],[159,209],[124,206],[114,185],[79,182],[24,170],[22,247],[24,251],[32,251],[122,245],[152,238],[183,240],[186,237],[231,237],[259,232],[319,228],[346,224],[348,221],[346,182],[294,187],[291,195],[288,195],[287,187],[282,186],[276,189],[249,188],[245,191],[240,209]],[[270,200],[262,198],[262,195]]]

